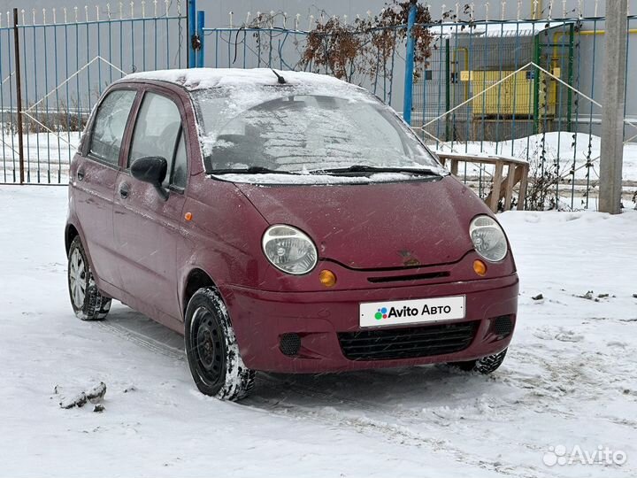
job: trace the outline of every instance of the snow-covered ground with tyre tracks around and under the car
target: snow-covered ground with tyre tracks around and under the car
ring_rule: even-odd
[[[0,204],[0,476],[637,475],[635,211],[500,216],[520,308],[490,377],[257,374],[232,404],[199,394],[180,337],[142,315],[74,318],[65,188],[4,186]],[[59,407],[99,382],[104,412]],[[544,463],[598,446],[625,463]]]

